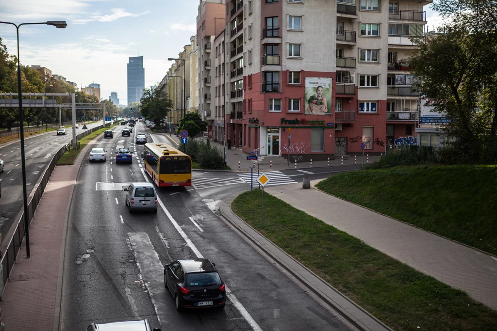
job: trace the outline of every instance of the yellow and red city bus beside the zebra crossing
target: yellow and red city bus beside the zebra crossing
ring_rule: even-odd
[[[191,158],[171,145],[146,143],[142,158],[155,185],[191,186]]]

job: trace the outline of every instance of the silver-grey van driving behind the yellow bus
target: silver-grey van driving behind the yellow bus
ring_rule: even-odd
[[[151,183],[130,183],[129,186],[123,186],[126,192],[126,206],[129,212],[135,210],[152,210],[157,213],[157,192]]]

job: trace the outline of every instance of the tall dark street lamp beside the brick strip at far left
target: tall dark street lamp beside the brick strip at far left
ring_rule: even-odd
[[[19,25],[11,22],[1,22],[1,24],[10,24],[15,26],[17,31],[17,92],[19,98],[19,129],[21,133],[21,165],[22,165],[22,199],[24,202],[24,235],[26,237],[26,258],[30,257],[29,253],[29,214],[28,214],[28,198],[26,192],[26,162],[24,161],[24,113],[22,111],[22,87],[21,87],[21,62],[19,60],[19,28],[21,25],[46,24],[53,25],[58,29],[63,29],[67,26],[66,21],[47,21],[39,23],[21,23]]]

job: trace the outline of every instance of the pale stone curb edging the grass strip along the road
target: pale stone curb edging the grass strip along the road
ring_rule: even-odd
[[[346,322],[350,323],[353,327],[360,331],[393,331],[383,322],[381,322],[369,312],[364,310],[362,307],[357,305],[355,302],[347,298],[340,291],[331,286],[327,281],[322,279],[319,275],[295,260],[292,256],[280,249],[277,245],[264,237],[260,232],[252,228],[240,217],[238,217],[231,209],[231,202],[242,193],[243,192],[239,192],[231,195],[221,202],[219,211],[221,213],[221,219],[223,221],[236,228],[238,232],[243,234],[243,236],[247,238],[247,240],[253,243],[262,252],[264,252],[277,265],[287,270],[303,286],[312,291],[313,294],[315,294],[326,304],[328,304],[334,310],[334,312],[338,314],[337,317],[346,320]],[[236,217],[238,220],[233,219],[230,215],[228,215],[223,210],[224,208],[229,208],[229,213],[233,214],[233,216]],[[263,240],[267,241],[267,244],[259,242],[256,237],[263,238]],[[276,253],[271,252],[271,249],[276,251]],[[283,261],[284,259],[288,259],[289,263]],[[292,267],[292,265],[295,265],[296,267],[299,267],[303,270],[298,272]]]

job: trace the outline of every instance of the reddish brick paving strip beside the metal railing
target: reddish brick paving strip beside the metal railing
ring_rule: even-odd
[[[62,236],[77,172],[78,166],[55,167],[45,188],[29,227],[31,258],[25,258],[23,242],[3,292],[5,330],[38,331],[54,327]],[[15,280],[20,275],[27,275],[28,279]],[[58,322],[55,324],[58,328]]]

